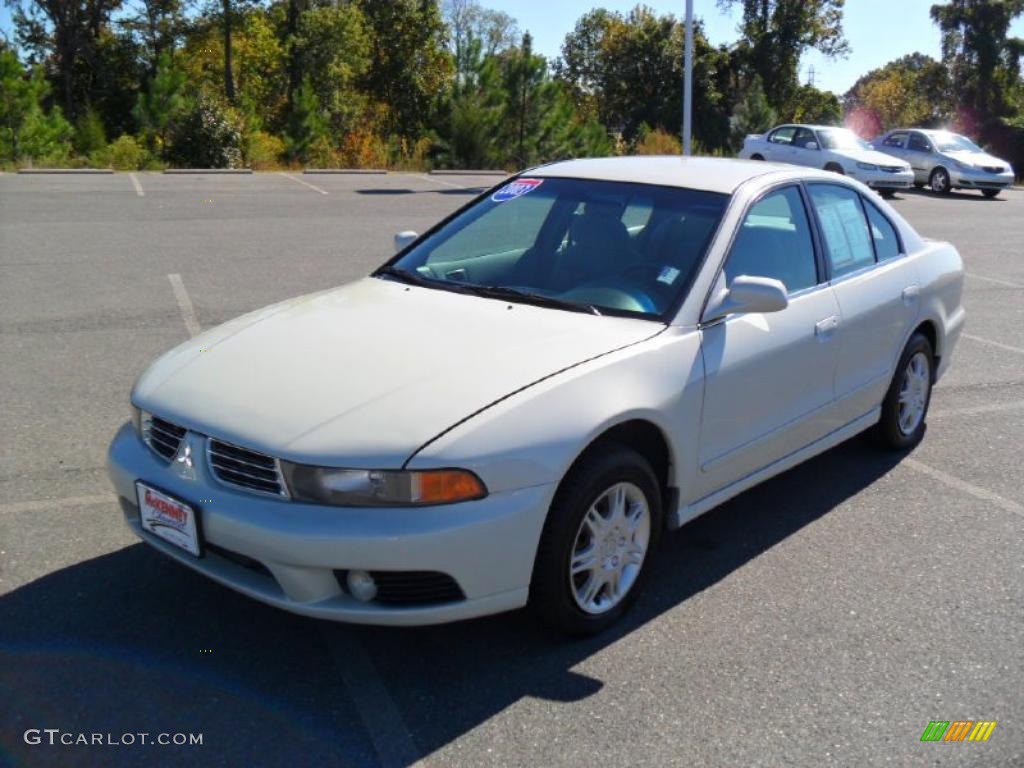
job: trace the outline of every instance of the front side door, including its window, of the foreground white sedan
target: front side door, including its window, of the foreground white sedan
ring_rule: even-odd
[[[779,312],[733,314],[701,329],[705,407],[697,497],[725,487],[829,431],[839,305],[816,259],[798,184],[766,193],[748,211],[724,266],[782,281]]]

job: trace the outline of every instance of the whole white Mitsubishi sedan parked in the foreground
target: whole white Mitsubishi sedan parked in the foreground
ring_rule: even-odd
[[[271,605],[595,632],[667,528],[863,430],[916,443],[962,284],[848,177],[556,163],[165,354],[111,477],[145,542]]]

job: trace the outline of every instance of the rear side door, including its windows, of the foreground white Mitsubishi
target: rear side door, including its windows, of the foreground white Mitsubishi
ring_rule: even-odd
[[[807,185],[839,302],[836,415],[843,423],[882,402],[919,311],[912,261],[873,202],[845,184]]]

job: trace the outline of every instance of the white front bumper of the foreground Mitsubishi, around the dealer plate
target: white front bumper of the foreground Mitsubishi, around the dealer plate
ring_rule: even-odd
[[[164,554],[264,603],[359,624],[439,624],[525,605],[554,493],[550,484],[537,485],[476,502],[403,509],[302,504],[226,486],[203,462],[185,477],[174,462],[146,447],[130,424],[111,443],[108,470],[129,527]],[[198,510],[207,545],[203,557],[142,530],[135,480]],[[444,573],[465,599],[424,605],[360,602],[336,575],[350,569]]]

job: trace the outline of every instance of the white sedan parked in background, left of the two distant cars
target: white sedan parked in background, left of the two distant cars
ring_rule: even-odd
[[[913,184],[913,170],[903,160],[873,150],[848,128],[780,125],[743,139],[739,157],[821,168],[853,176],[884,198]]]

